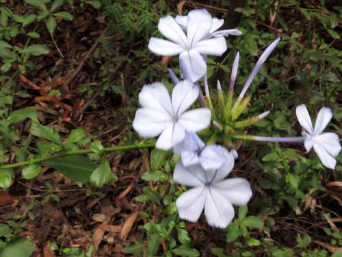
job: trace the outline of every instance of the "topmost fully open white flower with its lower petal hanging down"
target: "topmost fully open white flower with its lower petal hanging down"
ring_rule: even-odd
[[[183,60],[189,71],[189,79],[197,82],[207,72],[207,64],[202,55],[221,56],[227,49],[224,36],[208,38],[213,19],[205,9],[192,10],[187,15],[187,34],[172,16],[159,20],[158,29],[168,40],[150,38],[148,49],[160,56],[176,56]]]

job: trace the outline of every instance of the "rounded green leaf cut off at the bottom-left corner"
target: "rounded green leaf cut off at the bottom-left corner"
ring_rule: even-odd
[[[20,256],[29,257],[36,248],[30,241],[24,238],[14,238],[12,241],[5,244],[0,251],[0,257]]]

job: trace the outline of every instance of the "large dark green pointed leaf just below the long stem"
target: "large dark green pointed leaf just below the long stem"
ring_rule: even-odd
[[[90,175],[96,169],[96,164],[83,156],[66,156],[47,160],[44,164],[55,168],[75,182],[89,182]]]

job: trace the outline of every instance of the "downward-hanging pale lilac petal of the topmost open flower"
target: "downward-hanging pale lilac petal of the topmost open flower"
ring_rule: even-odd
[[[182,51],[179,55],[179,66],[185,79],[197,82],[207,72],[207,64],[196,49]],[[185,72],[188,74],[185,76]]]

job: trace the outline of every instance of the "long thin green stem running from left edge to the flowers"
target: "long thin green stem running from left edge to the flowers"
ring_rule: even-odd
[[[131,149],[142,149],[142,148],[149,148],[154,147],[155,143],[144,143],[141,145],[122,145],[122,146],[115,146],[115,147],[105,147],[103,151],[121,151],[121,150],[131,150]],[[65,156],[75,156],[79,154],[90,154],[92,153],[92,149],[81,149],[81,150],[75,150],[75,151],[66,151],[64,153],[59,154],[53,154],[52,156],[47,157],[41,157],[41,158],[35,158],[32,160],[25,160],[24,162],[16,162],[14,164],[5,164],[0,166],[0,169],[11,169],[16,167],[21,167],[29,164],[35,164],[39,162],[44,162],[46,160],[51,160],[55,158],[61,158]]]

